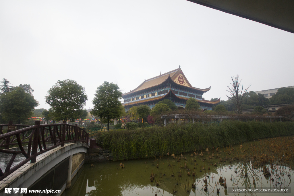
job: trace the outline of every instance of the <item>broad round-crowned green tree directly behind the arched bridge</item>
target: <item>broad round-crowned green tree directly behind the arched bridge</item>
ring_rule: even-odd
[[[45,96],[54,112],[55,119],[74,122],[80,116],[80,110],[86,105],[88,96],[85,88],[73,80],[59,80]]]

